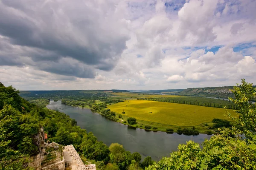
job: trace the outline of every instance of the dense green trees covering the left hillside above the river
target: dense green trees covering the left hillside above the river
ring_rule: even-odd
[[[37,99],[33,102],[42,104],[46,101]],[[110,111],[105,109],[105,112]],[[0,170],[29,169],[25,158],[38,154],[35,136],[41,127],[49,141],[73,144],[81,156],[96,163],[98,170],[140,170],[145,164],[144,161],[140,164],[139,153],[131,154],[120,144],[106,146],[97,141],[92,132],[86,133],[76,126],[76,120],[66,114],[29,103],[15,88],[0,83]]]

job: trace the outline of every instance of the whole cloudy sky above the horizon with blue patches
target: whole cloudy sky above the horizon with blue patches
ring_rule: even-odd
[[[0,82],[19,90],[256,84],[256,0],[0,0]]]

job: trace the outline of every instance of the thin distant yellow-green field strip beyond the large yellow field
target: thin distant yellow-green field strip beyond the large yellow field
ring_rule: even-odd
[[[113,98],[119,98],[119,99],[137,99],[137,98],[161,98],[161,97],[179,97],[175,95],[157,95],[157,94],[137,94],[137,93],[111,93]]]

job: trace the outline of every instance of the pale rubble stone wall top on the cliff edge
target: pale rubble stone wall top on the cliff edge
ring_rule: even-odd
[[[76,160],[76,165],[80,170],[90,170],[96,168],[96,164],[84,165],[73,144],[65,146],[64,150],[67,150],[70,153],[70,156],[74,157],[74,159]]]

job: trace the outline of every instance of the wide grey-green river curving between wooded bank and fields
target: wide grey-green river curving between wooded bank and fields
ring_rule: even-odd
[[[143,129],[129,128],[118,122],[113,122],[98,113],[93,113],[87,108],[78,108],[62,104],[61,101],[50,100],[47,108],[58,110],[76,119],[77,125],[93,132],[99,141],[108,146],[111,143],[122,144],[131,153],[139,152],[142,160],[145,156],[151,156],[155,161],[163,156],[169,156],[172,151],[176,151],[179,144],[186,144],[186,141],[193,140],[198,143],[204,142],[211,136],[199,134],[198,136],[178,135],[177,133],[167,134],[166,132],[147,132]]]

